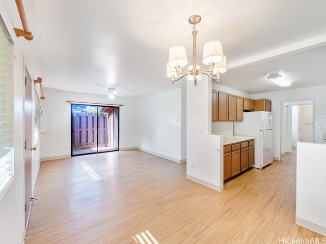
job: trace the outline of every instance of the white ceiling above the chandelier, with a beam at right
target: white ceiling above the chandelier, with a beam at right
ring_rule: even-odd
[[[14,1],[1,1],[14,27],[21,28]],[[324,0],[23,0],[23,5],[34,35],[28,45],[37,57],[35,75],[44,87],[101,95],[116,87],[130,98],[185,87],[185,78],[171,84],[166,63],[175,44],[184,45],[192,60],[193,14],[202,16],[196,26],[201,67],[203,44],[214,39],[223,44],[228,71],[220,84],[249,94],[326,84]],[[279,87],[265,78],[271,73],[293,84]]]

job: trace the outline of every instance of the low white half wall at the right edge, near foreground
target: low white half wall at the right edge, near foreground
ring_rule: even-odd
[[[298,142],[295,223],[326,235],[326,144]]]

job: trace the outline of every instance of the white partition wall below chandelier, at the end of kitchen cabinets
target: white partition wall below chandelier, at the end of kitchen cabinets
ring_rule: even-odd
[[[187,178],[223,191],[223,139],[211,135],[211,81],[187,82]]]

